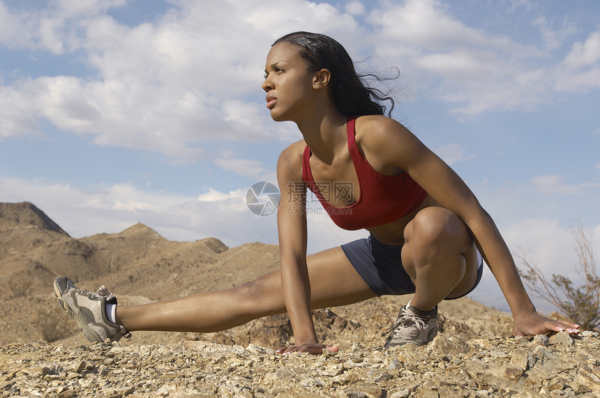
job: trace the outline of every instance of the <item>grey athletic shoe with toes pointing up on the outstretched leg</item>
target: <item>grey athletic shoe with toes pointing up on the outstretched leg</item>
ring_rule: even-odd
[[[96,294],[77,289],[68,277],[57,277],[54,280],[54,294],[89,342],[102,343],[106,339],[118,342],[121,337],[131,337],[126,328],[108,320],[106,304],[117,304],[117,298],[105,286],[98,289]]]

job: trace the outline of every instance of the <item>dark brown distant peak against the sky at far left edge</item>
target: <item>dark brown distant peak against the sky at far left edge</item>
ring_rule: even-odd
[[[59,224],[52,221],[43,211],[28,201],[0,203],[0,230],[18,227],[37,227],[70,237],[59,227]]]

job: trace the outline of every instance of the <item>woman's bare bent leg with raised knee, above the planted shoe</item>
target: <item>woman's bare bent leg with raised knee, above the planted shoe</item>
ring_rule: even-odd
[[[463,296],[477,280],[473,238],[445,208],[424,208],[407,224],[402,263],[415,286],[411,305],[423,311],[444,298]]]

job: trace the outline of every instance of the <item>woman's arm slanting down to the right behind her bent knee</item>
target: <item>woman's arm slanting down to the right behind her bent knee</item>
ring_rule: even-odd
[[[369,131],[373,137],[365,151],[379,148],[380,167],[407,171],[437,203],[465,222],[509,303],[515,319],[513,335],[560,330],[577,332],[573,323],[553,321],[537,314],[500,231],[458,174],[400,123],[389,118],[373,121]]]

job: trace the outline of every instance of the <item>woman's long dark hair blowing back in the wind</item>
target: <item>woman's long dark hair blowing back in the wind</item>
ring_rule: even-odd
[[[344,116],[382,115],[387,107],[382,102],[389,101],[387,112],[391,116],[394,102],[388,94],[366,86],[364,77],[377,75],[358,75],[354,63],[346,49],[336,40],[320,33],[294,32],[278,38],[273,45],[289,43],[299,48],[299,54],[308,64],[308,72],[327,69],[331,72],[329,89],[333,103]],[[396,76],[398,77],[398,76]]]

